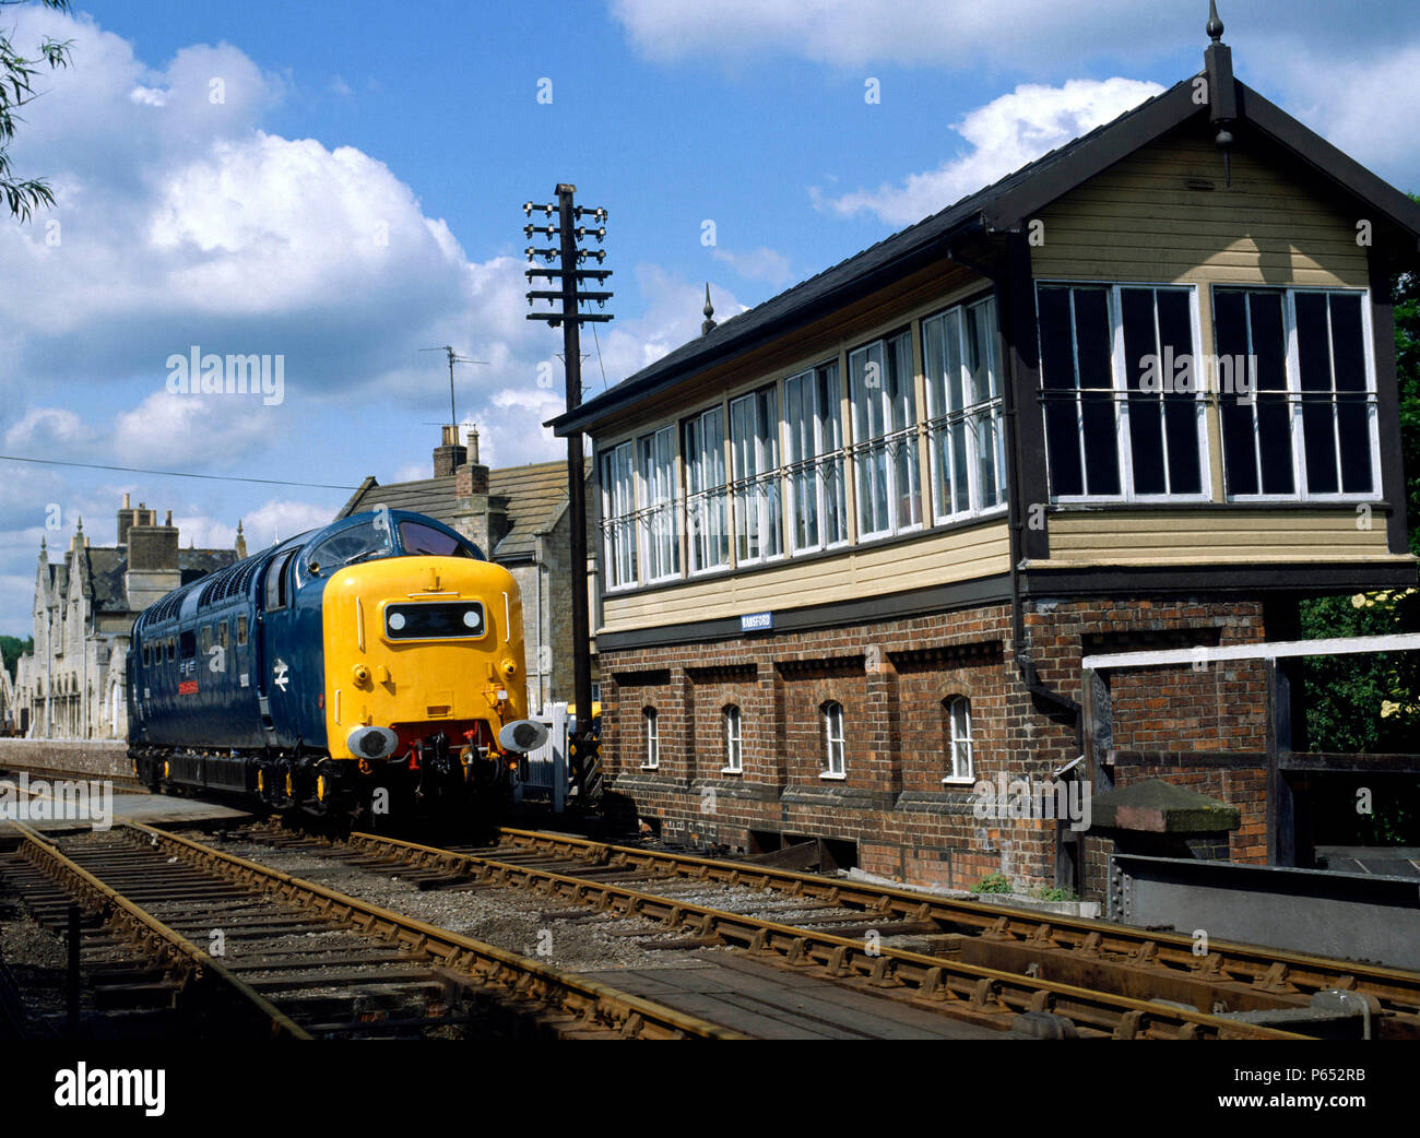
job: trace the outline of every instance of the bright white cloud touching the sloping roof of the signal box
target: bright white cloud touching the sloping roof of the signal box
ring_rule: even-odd
[[[870,213],[905,226],[988,186],[1048,150],[1092,131],[1163,88],[1139,79],[1069,79],[1062,87],[1022,84],[971,111],[954,129],[970,149],[900,184],[839,197],[814,192],[819,209],[839,216]]]

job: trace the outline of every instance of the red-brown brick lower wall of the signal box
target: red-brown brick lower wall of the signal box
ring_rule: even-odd
[[[1079,700],[1088,651],[1261,639],[1255,603],[1089,600],[1027,604],[1041,680]],[[856,846],[869,873],[963,888],[990,873],[1018,887],[1055,883],[1052,820],[978,819],[973,788],[950,772],[947,704],[970,700],[974,775],[1048,780],[1078,756],[1074,724],[1038,709],[1012,664],[1010,606],[865,626],[605,651],[602,755],[615,802],[667,837],[754,850],[764,836]],[[1261,668],[1237,664],[1122,674],[1118,748],[1262,749]],[[843,707],[846,778],[822,778],[825,701]],[[741,709],[743,773],[724,766],[723,709]],[[648,708],[660,765],[643,768]],[[1261,772],[1130,768],[1242,812],[1238,860],[1261,860]],[[1102,888],[1105,843],[1085,843],[1088,895]]]

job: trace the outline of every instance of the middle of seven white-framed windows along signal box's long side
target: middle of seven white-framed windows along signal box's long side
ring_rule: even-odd
[[[768,407],[765,407],[768,400]],[[768,414],[772,411],[772,414]],[[736,429],[748,414],[750,433]],[[780,433],[784,416],[777,383],[755,387],[728,402],[730,424],[730,532],[736,565],[761,565],[784,559],[784,470]],[[754,539],[755,553],[744,552]],[[770,548],[774,552],[765,552]]]

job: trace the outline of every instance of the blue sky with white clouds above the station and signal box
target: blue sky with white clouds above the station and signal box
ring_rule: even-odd
[[[535,14],[534,14],[535,13]],[[1420,186],[1420,6],[1224,0],[1238,74]],[[11,149],[57,207],[0,221],[0,453],[355,485],[423,477],[447,382],[497,465],[558,457],[523,318],[521,203],[611,210],[616,321],[588,392],[1108,121],[1201,62],[1207,4],[1042,0],[88,3]],[[551,81],[551,104],[538,101]],[[880,101],[865,99],[875,79]],[[544,85],[545,89],[545,85]],[[220,98],[214,95],[220,94]],[[714,223],[714,244],[703,243]],[[57,227],[51,223],[57,223]],[[284,399],[172,394],[166,360],[284,360]],[[0,463],[0,631],[45,516],[114,539],[124,491],[253,548],[341,491]]]

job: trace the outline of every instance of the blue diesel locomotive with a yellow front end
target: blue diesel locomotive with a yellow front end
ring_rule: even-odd
[[[133,773],[281,809],[488,807],[527,718],[517,582],[433,518],[342,518],[149,606],[128,654]]]

